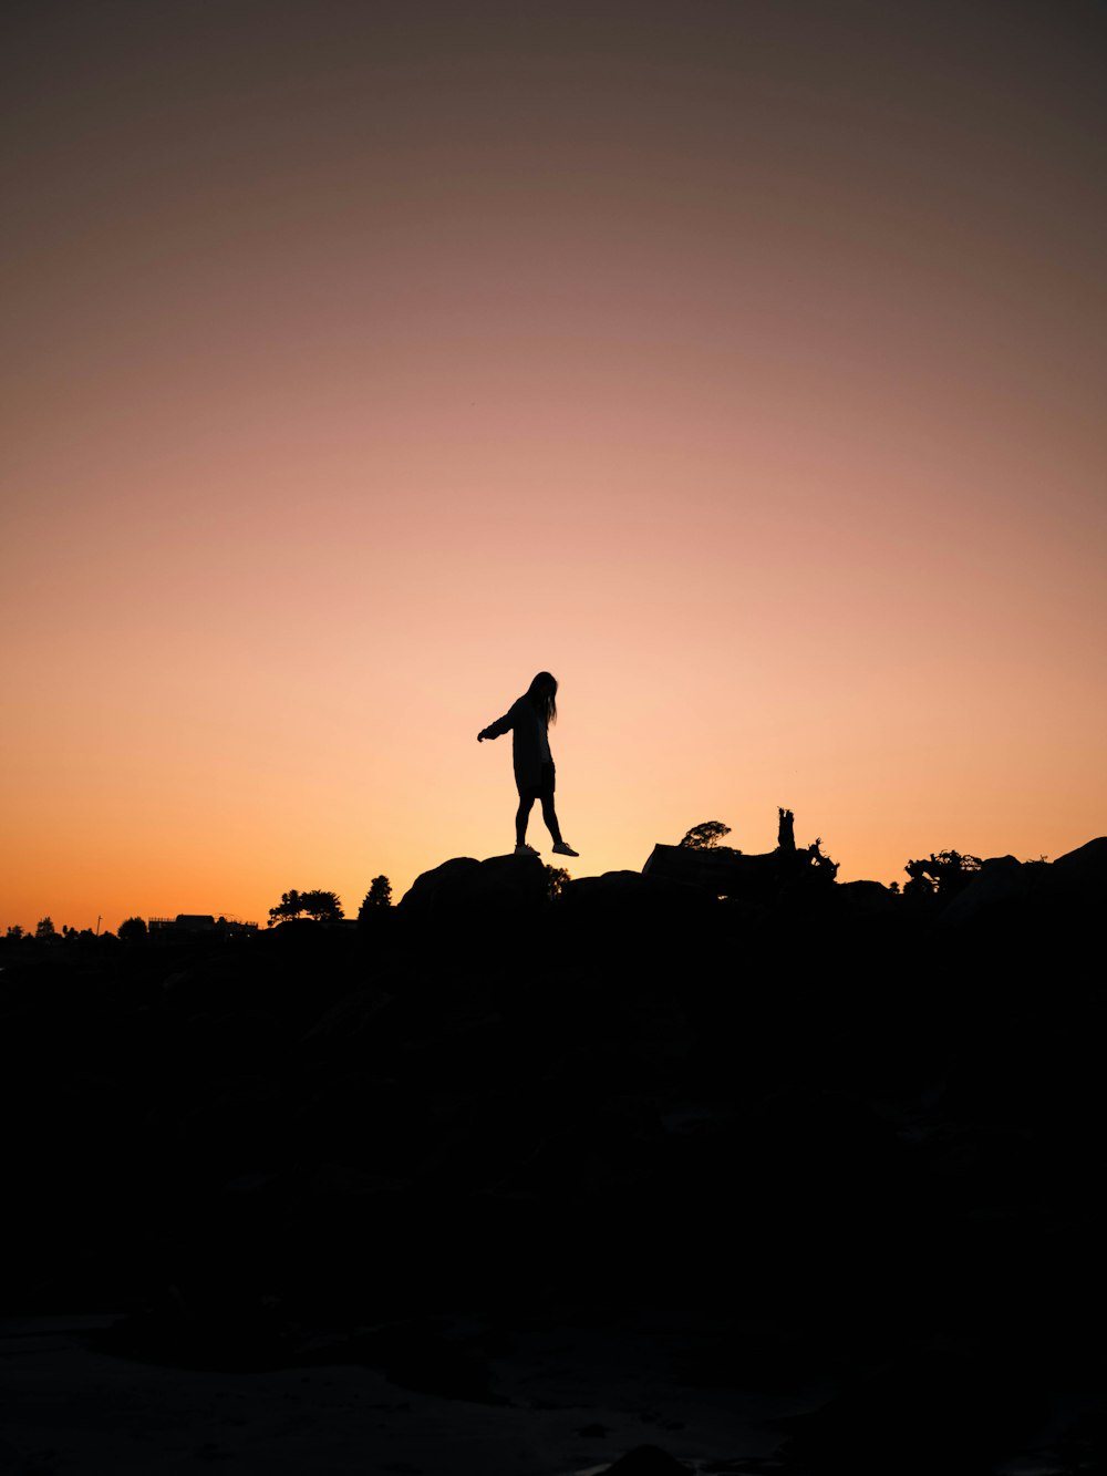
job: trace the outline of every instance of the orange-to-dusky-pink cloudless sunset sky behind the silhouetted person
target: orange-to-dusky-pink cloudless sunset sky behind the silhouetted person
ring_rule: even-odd
[[[1107,832],[1101,4],[3,25],[0,928]]]

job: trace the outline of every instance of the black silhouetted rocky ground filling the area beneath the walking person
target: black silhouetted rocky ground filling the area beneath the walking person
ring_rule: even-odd
[[[10,949],[0,1470],[1101,1469],[1103,849]]]

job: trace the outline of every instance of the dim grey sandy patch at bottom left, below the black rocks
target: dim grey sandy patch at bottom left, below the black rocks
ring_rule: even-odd
[[[447,1334],[465,1336],[459,1320],[449,1321]],[[716,1330],[673,1314],[608,1311],[512,1327],[487,1361],[497,1402],[421,1393],[348,1364],[165,1368],[90,1346],[111,1322],[0,1322],[4,1476],[173,1476],[210,1466],[258,1476],[584,1476],[644,1444],[695,1470],[759,1470],[781,1442],[770,1421],[825,1396],[686,1382],[697,1359],[710,1359]]]

